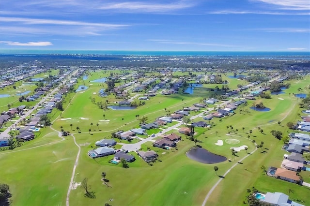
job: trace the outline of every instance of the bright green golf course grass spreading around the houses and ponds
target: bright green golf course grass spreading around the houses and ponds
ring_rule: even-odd
[[[113,73],[115,72],[113,71]],[[146,151],[149,147],[157,152],[161,162],[156,161],[153,166],[150,166],[142,161],[135,152],[130,152],[135,156],[136,161],[129,162],[129,168],[123,168],[121,164],[109,163],[112,156],[91,159],[87,155],[87,151],[94,148],[96,141],[103,138],[110,139],[111,132],[138,128],[140,121],[136,115],[139,115],[140,118],[147,117],[147,123],[150,123],[155,118],[166,116],[169,111],[173,113],[183,107],[199,103],[201,99],[210,96],[211,92],[202,90],[196,92],[195,90],[194,94],[167,96],[157,94],[150,100],[144,101],[144,105],[133,110],[103,110],[97,106],[96,102],[108,100],[109,105],[113,105],[114,102],[121,101],[121,99],[116,99],[114,95],[99,97],[98,91],[101,88],[107,88],[107,85],[91,81],[109,75],[110,71],[95,71],[88,74],[87,80],[80,79],[79,82],[89,88],[82,93],[67,95],[66,103],[64,103],[66,109],[64,111],[54,109],[55,111],[53,110],[50,114],[52,120],[55,120],[51,126],[52,129],[60,131],[62,127],[64,131],[70,131],[73,136],[66,136],[62,140],[58,136],[58,132],[47,127],[41,129],[38,137],[25,143],[22,147],[17,147],[13,151],[0,152],[0,164],[6,167],[5,170],[0,170],[0,177],[10,185],[13,205],[66,204],[66,195],[78,154],[78,147],[75,145],[73,137],[81,149],[74,173],[74,182],[80,183],[83,178],[88,178],[88,183],[91,185],[90,191],[93,191],[96,196],[94,199],[84,197],[85,191],[78,186],[70,192],[69,203],[73,206],[103,205],[105,203],[137,206],[201,205],[207,193],[221,178],[219,176],[223,176],[233,164],[246,156],[248,157],[244,161],[237,163],[225,178],[222,178],[206,205],[243,205],[246,190],[253,186],[263,192],[280,191],[286,194],[288,194],[288,188],[292,188],[295,191],[291,194],[294,201],[300,200],[303,205],[310,204],[310,200],[307,198],[309,188],[268,177],[261,169],[262,165],[266,168],[269,166],[280,167],[283,154],[285,154],[285,151],[281,150],[283,142],[274,138],[270,131],[281,131],[283,136],[292,132],[287,128],[286,123],[299,119],[297,114],[302,110],[298,108],[300,100],[295,98],[292,93],[297,93],[299,87],[306,90],[306,86],[309,84],[307,79],[298,80],[298,86],[291,84],[284,94],[272,95],[272,99],[248,100],[244,111],[239,112],[237,109],[231,117],[210,120],[211,128],[195,128],[195,137],[199,140],[197,145],[212,153],[224,156],[231,162],[204,164],[187,158],[186,152],[194,147],[195,143],[182,134],[182,140],[177,143],[177,148],[171,150],[153,147],[152,142],[141,146],[141,150]],[[175,72],[173,75],[183,75],[183,73]],[[228,77],[227,80],[232,89],[236,88],[237,84],[245,84],[244,80]],[[203,85],[203,87],[209,86]],[[212,87],[215,87],[215,84]],[[307,92],[309,91],[307,90]],[[130,95],[136,94],[143,95],[143,92]],[[95,98],[95,103],[91,102],[90,97]],[[258,112],[249,109],[252,103],[259,101],[271,110]],[[248,109],[247,112],[246,109]],[[199,114],[199,112],[191,112],[190,115],[195,114]],[[195,119],[195,121],[198,120],[203,119],[201,117]],[[281,123],[278,124],[278,121]],[[172,126],[176,123],[178,122],[172,122],[165,126]],[[233,129],[229,129],[229,135],[227,135],[227,126],[229,125],[232,125]],[[80,133],[77,127],[79,127]],[[263,129],[263,132],[258,131],[257,127]],[[252,133],[249,133],[249,130],[252,130]],[[150,135],[158,131],[159,129],[154,129],[147,133]],[[177,130],[171,132],[180,135]],[[249,138],[248,135],[250,135]],[[218,140],[223,141],[222,146],[215,145]],[[255,140],[257,144],[263,142],[263,147],[257,149],[252,140]],[[116,141],[128,144],[126,140]],[[134,139],[131,144],[138,141],[138,139]],[[248,147],[247,151],[241,150],[236,153],[236,156],[232,155],[231,147],[244,145]],[[115,148],[120,147],[121,145],[117,145]],[[248,155],[250,152],[253,154]],[[214,166],[219,168],[217,175]],[[102,172],[106,172],[106,179],[109,180],[107,184],[101,180]],[[305,181],[310,182],[310,172],[306,172]],[[227,196],[232,194],[232,191],[233,195]]]

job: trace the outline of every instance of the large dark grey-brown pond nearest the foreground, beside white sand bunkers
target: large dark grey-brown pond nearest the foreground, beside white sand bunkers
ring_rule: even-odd
[[[214,164],[218,162],[224,162],[227,160],[226,157],[214,154],[200,147],[192,147],[186,152],[186,156],[192,160],[202,162],[205,164]]]

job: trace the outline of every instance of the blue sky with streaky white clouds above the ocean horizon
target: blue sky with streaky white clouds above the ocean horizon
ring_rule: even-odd
[[[0,49],[310,51],[310,0],[1,0]]]

